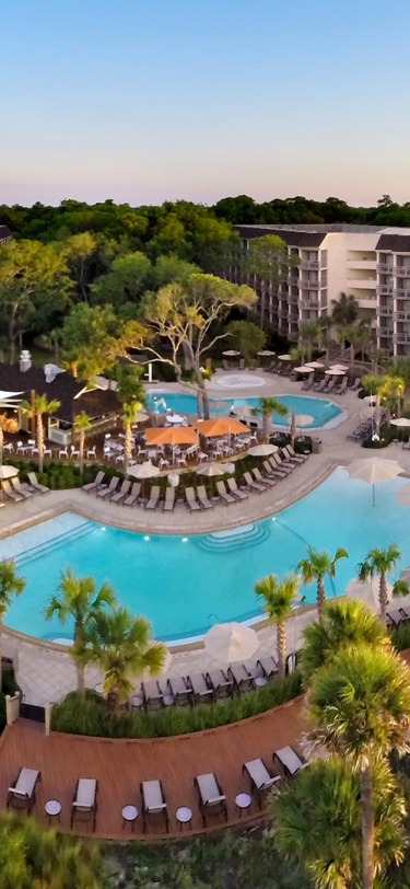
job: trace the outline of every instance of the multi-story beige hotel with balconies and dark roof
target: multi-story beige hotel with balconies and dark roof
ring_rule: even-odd
[[[241,256],[229,279],[248,280],[265,298],[267,319],[282,336],[297,338],[301,324],[332,312],[332,300],[353,296],[361,315],[372,315],[377,345],[389,355],[410,355],[410,229],[382,226],[234,226],[241,256],[249,241],[277,234],[300,263],[279,287],[244,277]],[[265,292],[263,292],[265,291]]]

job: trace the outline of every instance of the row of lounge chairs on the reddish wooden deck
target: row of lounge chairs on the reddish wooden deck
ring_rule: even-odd
[[[242,773],[247,776],[250,794],[259,809],[262,808],[266,796],[283,778],[292,777],[307,763],[304,762],[292,747],[276,750],[272,763],[279,771],[266,765],[263,760],[255,759],[245,762]],[[31,813],[36,801],[36,787],[42,780],[42,773],[35,769],[23,767],[8,789],[7,808]],[[227,804],[223,788],[213,772],[196,775],[194,786],[198,794],[198,807],[203,827],[210,816],[224,817],[227,821]],[[71,828],[75,821],[91,822],[93,831],[97,817],[98,782],[95,778],[79,778],[71,804]],[[142,781],[140,783],[140,810],[142,816],[142,830],[147,832],[148,821],[164,821],[165,830],[169,830],[169,813],[163,784],[160,780]]]

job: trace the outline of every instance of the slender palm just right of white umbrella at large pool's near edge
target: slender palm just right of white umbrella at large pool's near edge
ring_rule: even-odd
[[[263,599],[263,613],[268,623],[277,625],[278,672],[284,676],[286,663],[286,625],[292,614],[292,603],[297,599],[300,578],[295,574],[285,575],[282,580],[274,574],[255,584],[255,593]]]

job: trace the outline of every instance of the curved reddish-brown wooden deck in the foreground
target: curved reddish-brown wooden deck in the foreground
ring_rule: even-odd
[[[276,749],[291,744],[297,749],[306,726],[303,721],[303,697],[276,707],[259,716],[192,735],[152,740],[108,740],[51,732],[44,726],[17,719],[8,726],[0,739],[0,806],[5,806],[7,790],[22,766],[42,772],[37,786],[34,815],[46,823],[44,805],[59,799],[62,806],[61,830],[70,829],[71,799],[79,777],[98,780],[98,813],[95,836],[109,840],[144,839],[139,816],[136,832],[122,830],[121,809],[133,804],[140,810],[140,782],[161,778],[169,812],[169,833],[162,824],[150,824],[147,840],[180,836],[175,811],[189,806],[194,817],[191,832],[203,832],[198,810],[194,778],[214,772],[226,795],[227,826],[245,824],[260,819],[255,803],[241,821],[235,796],[249,790],[242,774],[243,763],[261,757],[272,765]],[[206,832],[225,824],[221,816],[208,820]],[[77,829],[74,827],[77,832]],[[87,824],[78,832],[91,834]],[[187,829],[185,828],[185,832]]]

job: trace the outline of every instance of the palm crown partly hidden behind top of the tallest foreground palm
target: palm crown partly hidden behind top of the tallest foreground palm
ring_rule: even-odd
[[[386,628],[364,602],[343,599],[325,602],[321,620],[303,631],[301,665],[305,683],[345,645],[390,646]]]

